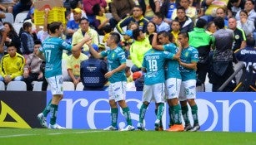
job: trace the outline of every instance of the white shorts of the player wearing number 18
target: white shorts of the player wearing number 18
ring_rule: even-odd
[[[144,85],[143,87],[143,102],[148,103],[154,100],[156,103],[164,103],[165,93],[164,93],[164,83],[159,83],[155,85]]]

